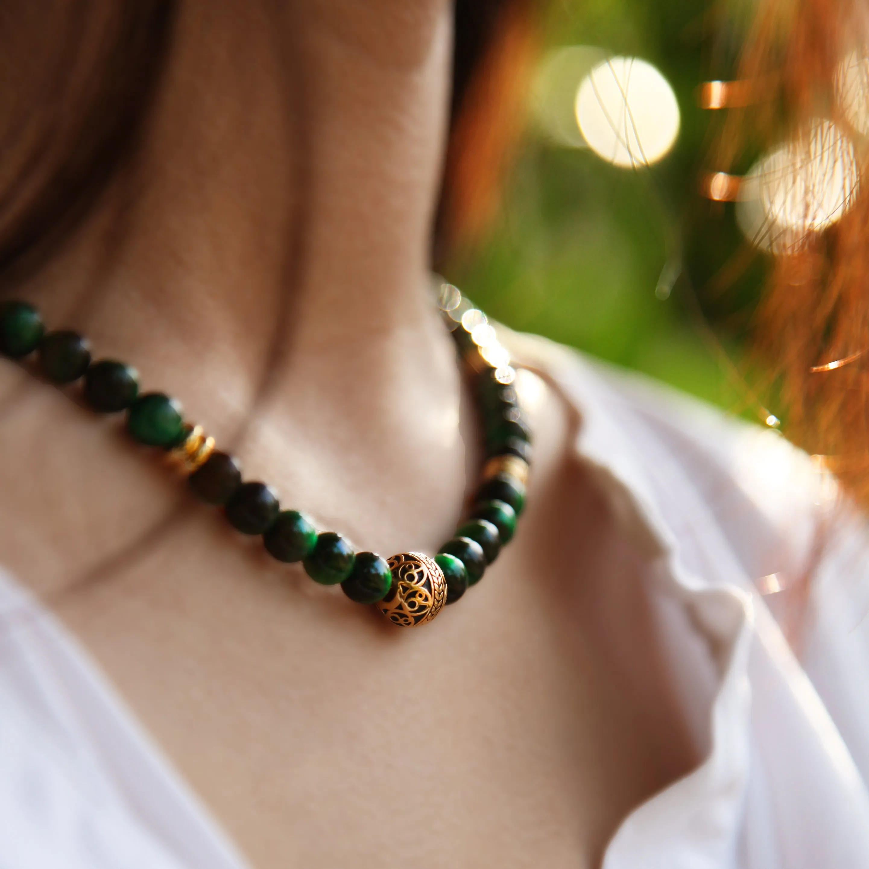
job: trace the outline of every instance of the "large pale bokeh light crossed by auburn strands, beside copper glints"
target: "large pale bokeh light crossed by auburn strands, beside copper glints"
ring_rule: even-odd
[[[832,121],[818,120],[754,164],[740,186],[737,222],[760,249],[798,250],[845,214],[858,186],[850,138]]]

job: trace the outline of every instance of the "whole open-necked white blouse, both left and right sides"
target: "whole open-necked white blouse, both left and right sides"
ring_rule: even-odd
[[[710,746],[624,819],[604,869],[866,869],[866,521],[772,431],[541,339],[508,343],[580,414],[580,461],[665,553],[638,593]],[[798,660],[771,611],[807,572]],[[4,574],[0,619],[0,869],[242,869],[95,663]]]

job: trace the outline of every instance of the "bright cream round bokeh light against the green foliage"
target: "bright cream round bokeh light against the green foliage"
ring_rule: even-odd
[[[576,119],[595,154],[632,169],[665,156],[680,125],[673,88],[637,57],[611,57],[588,73],[576,94]]]

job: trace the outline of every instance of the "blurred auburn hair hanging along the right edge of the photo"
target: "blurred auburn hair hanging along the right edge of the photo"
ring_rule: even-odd
[[[739,76],[758,83],[734,110],[713,158],[724,169],[740,149],[811,135],[825,118],[854,143],[858,184],[848,209],[823,231],[773,256],[753,324],[753,346],[782,408],[788,437],[869,505],[869,196],[866,139],[843,110],[841,64],[869,56],[859,0],[764,0]],[[862,94],[869,111],[869,90]]]

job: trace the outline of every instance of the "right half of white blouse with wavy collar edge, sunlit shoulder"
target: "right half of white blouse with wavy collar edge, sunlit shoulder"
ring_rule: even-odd
[[[708,757],[627,819],[613,865],[640,865],[615,855],[635,859],[640,843],[650,853],[675,810],[673,847],[691,839],[709,865],[730,865],[730,852],[739,866],[866,866],[865,515],[823,461],[770,428],[540,338],[502,341],[573,411],[576,459],[627,494],[660,541],[664,580],[648,594],[678,600],[720,653],[701,710]],[[741,607],[723,606],[728,596]],[[672,620],[660,635],[678,639]],[[697,654],[675,645],[676,659]],[[693,837],[690,818],[720,835]]]

